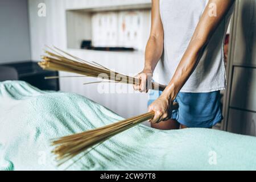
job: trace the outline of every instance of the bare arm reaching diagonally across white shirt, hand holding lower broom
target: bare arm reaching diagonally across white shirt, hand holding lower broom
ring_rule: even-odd
[[[209,5],[212,3],[216,5],[217,16],[210,16],[209,14],[209,12],[212,11]],[[168,118],[168,111],[171,109],[170,106],[172,102],[195,70],[210,38],[221,20],[225,18],[225,15],[228,13],[233,3],[234,0],[209,0],[203,15],[197,24],[191,42],[177,66],[174,76],[158,100],[148,107],[149,111],[155,111],[155,116],[151,122],[156,123]]]

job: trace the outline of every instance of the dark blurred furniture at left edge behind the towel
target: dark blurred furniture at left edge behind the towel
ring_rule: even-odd
[[[0,65],[0,81],[22,80],[41,90],[59,90],[59,79],[44,79],[46,76],[58,75],[58,72],[43,70],[32,61]]]

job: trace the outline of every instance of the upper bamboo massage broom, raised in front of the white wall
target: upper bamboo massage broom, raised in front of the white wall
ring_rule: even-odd
[[[104,77],[104,79],[107,79],[108,82],[118,82],[118,83],[124,83],[124,84],[135,84],[139,83],[138,78],[130,77],[123,75],[121,73],[113,72],[110,69],[95,63],[95,62],[89,62],[80,59],[79,57],[72,56],[71,54],[62,51],[59,48],[50,48],[51,51],[45,51],[47,53],[47,56],[42,56],[42,61],[40,61],[38,64],[43,69],[47,69],[50,71],[64,71],[64,72],[72,72],[77,73],[84,76],[89,77],[99,77],[102,73],[107,75],[108,77]],[[61,53],[60,53],[61,52]],[[119,79],[117,79],[117,77]],[[57,78],[57,77],[47,77],[47,78]],[[96,82],[92,82],[96,83]],[[150,86],[148,86],[150,88]],[[164,90],[166,88],[166,85],[161,85],[156,82],[152,82],[151,88],[154,90]]]

